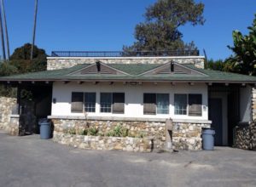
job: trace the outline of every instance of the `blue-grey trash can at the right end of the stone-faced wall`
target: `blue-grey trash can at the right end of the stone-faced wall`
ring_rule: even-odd
[[[204,128],[202,131],[203,150],[214,150],[215,130]]]

